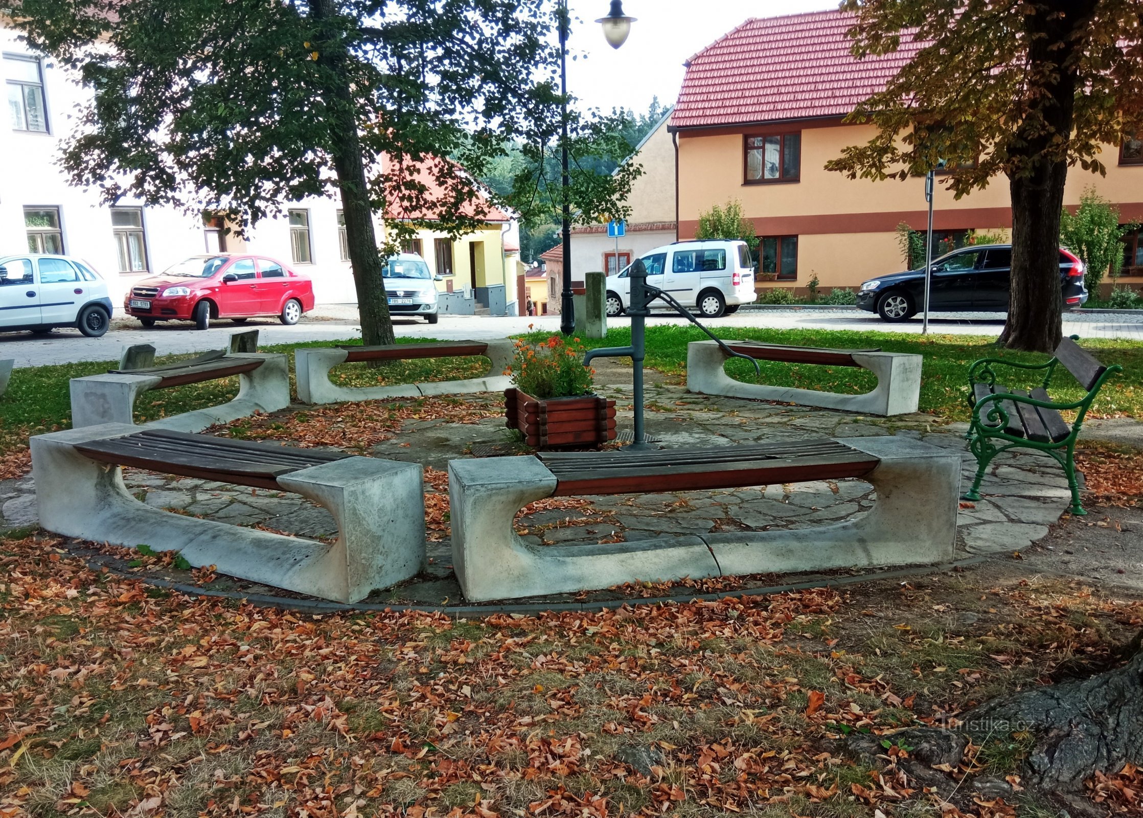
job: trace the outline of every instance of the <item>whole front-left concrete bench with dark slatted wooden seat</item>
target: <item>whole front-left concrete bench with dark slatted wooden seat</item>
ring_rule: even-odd
[[[416,576],[425,562],[421,466],[104,424],[31,439],[40,524],[66,537],[177,551],[192,566],[338,602]],[[333,545],[153,508],[121,466],[293,491],[329,510]]]

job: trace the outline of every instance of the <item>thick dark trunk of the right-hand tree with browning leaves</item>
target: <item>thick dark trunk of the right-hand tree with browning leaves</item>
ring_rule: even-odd
[[[1013,350],[1052,352],[1063,329],[1060,212],[1079,82],[1076,43],[1095,7],[1096,0],[1040,0],[1023,16],[1028,74],[1038,94],[1009,152],[1012,278],[1000,342]]]

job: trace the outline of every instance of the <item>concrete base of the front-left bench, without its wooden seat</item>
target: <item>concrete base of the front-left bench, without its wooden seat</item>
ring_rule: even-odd
[[[353,457],[294,472],[283,488],[325,505],[338,539],[301,537],[171,514],[135,499],[118,466],[91,460],[75,443],[119,438],[136,426],[104,424],[31,440],[40,524],[79,539],[177,551],[192,566],[337,602],[415,576],[424,564],[421,466]],[[287,482],[289,484],[287,486]]]

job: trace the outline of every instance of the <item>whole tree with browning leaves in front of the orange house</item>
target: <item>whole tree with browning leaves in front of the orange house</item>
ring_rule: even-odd
[[[850,178],[908,178],[945,160],[956,195],[1008,179],[1009,347],[1061,336],[1060,214],[1068,169],[1105,173],[1103,149],[1143,130],[1140,0],[844,0],[858,58],[920,46],[850,122],[868,144],[828,163]],[[1112,159],[1114,161],[1114,159]]]

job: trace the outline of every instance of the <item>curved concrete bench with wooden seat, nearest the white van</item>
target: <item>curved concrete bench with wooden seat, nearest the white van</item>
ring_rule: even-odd
[[[726,374],[729,360],[713,340],[687,345],[687,390],[705,395],[781,401],[799,406],[844,409],[863,415],[906,415],[917,411],[921,391],[921,356],[880,350],[825,350],[781,346],[752,340],[725,342],[735,352],[759,361],[858,367],[877,375],[877,388],[863,395],[845,395],[791,386],[744,384]]]

